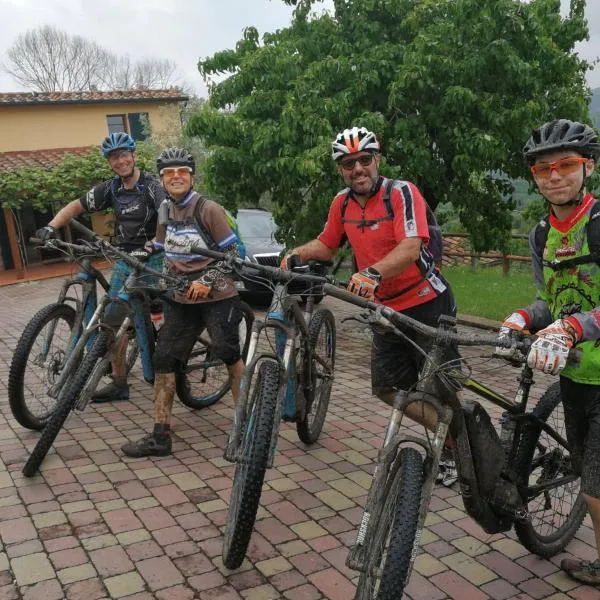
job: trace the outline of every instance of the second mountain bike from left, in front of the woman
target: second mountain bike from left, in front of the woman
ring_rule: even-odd
[[[95,234],[93,235],[95,236]],[[85,353],[81,362],[75,366],[69,384],[63,386],[61,393],[58,395],[56,408],[48,419],[40,439],[23,467],[23,474],[26,477],[31,477],[37,472],[71,411],[83,411],[85,409],[98,382],[107,372],[111,361],[114,359],[116,350],[121,347],[123,337],[128,335],[132,329],[135,331],[135,338],[141,355],[143,377],[149,383],[154,382],[152,356],[156,340],[150,317],[150,300],[161,298],[163,301],[172,302],[169,295],[173,292],[184,292],[188,285],[188,280],[185,277],[171,276],[155,271],[129,254],[111,246],[102,238],[98,236],[95,236],[95,238],[95,250],[102,251],[112,259],[123,260],[132,267],[133,271],[128,276],[117,298],[111,299],[106,295],[100,300],[86,329],[77,342],[76,348],[77,346],[82,348],[87,344],[90,336],[96,334],[91,348]],[[144,284],[144,275],[160,278],[167,282],[169,287],[158,288]],[[247,306],[243,306],[242,311],[243,318],[240,329],[247,332],[247,334],[241,339],[245,341],[244,347],[246,347],[253,315]],[[116,314],[117,312],[121,314]],[[59,379],[63,377],[64,373],[71,370],[70,365],[75,352],[76,350],[66,361]],[[204,394],[202,396],[194,395],[196,382],[201,381],[207,371],[220,368],[220,361],[214,360],[211,354],[209,339],[203,340],[201,336],[199,342],[195,344],[185,368],[176,373],[177,394],[182,402],[192,408],[198,408],[197,398],[203,400],[206,397]]]

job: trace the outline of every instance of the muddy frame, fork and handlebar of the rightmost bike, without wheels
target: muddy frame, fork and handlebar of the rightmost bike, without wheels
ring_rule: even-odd
[[[414,319],[407,317],[401,313],[397,313],[382,305],[374,304],[363,298],[359,298],[340,288],[332,285],[324,285],[326,294],[337,297],[341,300],[366,308],[373,316],[373,320],[384,326],[392,329],[396,326],[410,327],[424,335],[429,336],[433,340],[433,346],[427,353],[423,370],[419,377],[415,390],[410,392],[400,391],[397,393],[390,420],[385,432],[384,442],[377,457],[377,464],[373,474],[373,481],[367,504],[363,513],[363,518],[359,527],[354,547],[350,550],[346,564],[355,570],[363,571],[367,565],[369,545],[374,532],[376,531],[377,523],[382,514],[384,507],[384,493],[386,491],[386,483],[388,477],[394,476],[395,459],[401,445],[415,444],[421,447],[426,454],[426,468],[424,472],[424,481],[421,494],[421,504],[419,509],[419,518],[413,553],[411,556],[410,568],[416,558],[419,546],[419,539],[423,524],[428,512],[429,501],[433,490],[433,484],[438,472],[439,460],[444,447],[444,443],[448,434],[455,443],[455,453],[457,459],[457,470],[459,474],[459,483],[463,502],[467,513],[479,523],[488,533],[497,533],[507,531],[512,526],[512,523],[517,519],[526,519],[527,514],[511,514],[506,507],[506,512],[499,511],[498,506],[492,507],[490,498],[484,497],[479,490],[479,480],[476,473],[473,455],[471,452],[470,441],[467,434],[465,415],[461,404],[456,395],[456,388],[466,388],[473,391],[475,394],[492,402],[496,406],[503,408],[506,411],[507,420],[514,421],[515,427],[509,433],[512,439],[507,440],[506,447],[510,445],[507,454],[498,456],[498,461],[504,462],[512,460],[517,453],[519,439],[521,437],[522,428],[526,424],[532,424],[540,430],[546,432],[563,448],[568,449],[567,441],[559,435],[552,427],[538,419],[531,413],[526,413],[526,405],[529,399],[529,391],[533,384],[533,371],[526,364],[521,368],[521,374],[518,379],[519,387],[515,394],[514,400],[510,400],[505,396],[498,394],[491,388],[475,381],[472,378],[458,378],[459,371],[444,371],[444,374],[454,380],[456,388],[451,388],[444,383],[439,376],[438,368],[444,362],[444,349],[450,344],[459,346],[496,346],[497,336],[495,334],[458,334],[454,332],[456,321],[451,317],[442,317],[440,325],[437,328],[426,326]],[[397,331],[397,329],[396,329]],[[525,351],[529,346],[529,341],[522,342],[522,351]],[[442,402],[440,398],[444,398]],[[400,425],[404,411],[409,404],[422,402],[431,406],[437,413],[437,427],[433,434],[433,439],[419,438],[400,431]],[[483,409],[484,412],[485,409]],[[486,412],[487,415],[487,412]],[[531,499],[540,494],[570,483],[578,479],[576,475],[566,475],[560,479],[545,484],[530,486],[520,482],[518,485],[521,497]],[[495,510],[494,510],[495,509]],[[410,577],[410,570],[406,580]]]

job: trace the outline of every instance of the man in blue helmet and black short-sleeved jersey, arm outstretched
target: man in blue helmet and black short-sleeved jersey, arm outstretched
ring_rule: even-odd
[[[150,173],[141,171],[135,165],[135,141],[124,132],[111,133],[104,138],[100,150],[108,161],[115,176],[93,187],[78,200],[73,200],[56,213],[56,216],[36,232],[42,240],[55,237],[61,227],[84,212],[112,209],[115,215],[115,244],[125,252],[145,260],[149,267],[162,268],[162,253],[152,244],[156,236],[158,207],[165,198],[160,181]],[[117,261],[113,267],[109,295],[115,298],[125,283],[131,267]],[[146,278],[148,284],[152,281]],[[111,307],[111,318],[116,324],[121,311]],[[93,402],[127,400],[126,363],[127,336],[112,363],[112,381],[93,396]]]

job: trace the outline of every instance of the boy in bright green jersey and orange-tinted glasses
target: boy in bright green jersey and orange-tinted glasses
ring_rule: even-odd
[[[529,238],[536,300],[506,318],[499,339],[537,332],[529,366],[560,373],[571,460],[581,474],[600,556],[600,267],[590,255],[588,231],[597,201],[586,190],[600,142],[588,125],[557,119],[533,132],[523,154],[549,215]],[[564,559],[561,567],[573,579],[600,585],[600,559]]]

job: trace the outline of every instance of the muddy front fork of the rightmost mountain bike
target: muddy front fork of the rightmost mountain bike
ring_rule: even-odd
[[[438,424],[431,443],[427,439],[422,439],[413,435],[403,435],[400,432],[404,411],[406,407],[413,402],[427,402],[433,405],[438,413]],[[385,504],[389,476],[398,453],[398,448],[401,444],[411,442],[424,449],[427,460],[424,467],[425,479],[422,487],[417,531],[411,552],[410,568],[407,573],[408,580],[410,572],[412,571],[412,565],[419,551],[421,532],[427,516],[433,483],[437,475],[440,456],[446,441],[451,419],[452,410],[443,406],[434,397],[429,395],[425,396],[419,392],[408,394],[405,391],[399,391],[396,394],[390,421],[385,432],[383,446],[377,456],[377,465],[373,472],[371,488],[369,489],[367,504],[356,535],[356,541],[346,558],[347,567],[356,571],[364,571],[366,568],[371,553],[370,542],[377,531],[383,506]]]

